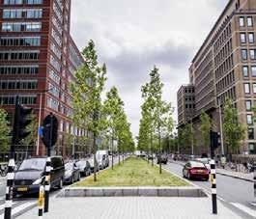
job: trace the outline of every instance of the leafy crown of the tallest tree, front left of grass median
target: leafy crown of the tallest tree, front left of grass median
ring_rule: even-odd
[[[73,121],[99,136],[103,123],[101,93],[106,81],[106,67],[98,65],[94,41],[89,41],[82,55],[86,63],[75,72],[76,81],[71,83]]]

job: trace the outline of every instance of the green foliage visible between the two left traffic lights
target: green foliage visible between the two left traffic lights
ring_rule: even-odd
[[[30,134],[21,141],[21,144],[26,147],[35,146],[37,143],[37,140],[38,140],[38,125],[39,125],[39,123],[38,123],[37,115],[31,114],[30,119],[31,119],[31,123],[26,128],[26,131],[29,131]]]

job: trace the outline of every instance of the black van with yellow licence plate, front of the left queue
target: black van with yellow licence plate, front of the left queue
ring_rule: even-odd
[[[30,158],[22,161],[14,175],[14,195],[38,193],[44,182],[46,157]],[[52,156],[50,187],[62,188],[64,180],[64,160],[61,156]]]

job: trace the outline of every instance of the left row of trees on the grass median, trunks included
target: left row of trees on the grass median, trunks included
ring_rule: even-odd
[[[86,128],[93,134],[95,163],[97,139],[102,135],[111,139],[112,151],[114,141],[117,141],[120,161],[120,153],[133,151],[134,148],[124,102],[115,87],[107,92],[106,99],[102,101],[107,70],[105,64],[100,66],[98,63],[94,41],[89,41],[82,55],[85,63],[75,72],[75,81],[71,83],[73,122],[77,127]],[[97,180],[96,168],[95,165],[95,180]]]

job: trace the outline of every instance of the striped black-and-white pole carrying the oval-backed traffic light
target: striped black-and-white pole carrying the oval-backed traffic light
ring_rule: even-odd
[[[47,161],[46,161],[46,170],[45,170],[45,180],[44,180],[44,191],[45,191],[45,205],[44,212],[48,212],[49,210],[49,192],[50,192],[50,171],[51,171],[51,163],[50,163],[50,151],[51,151],[51,143],[52,143],[52,125],[53,125],[53,115],[50,113],[50,145],[47,149]]]

